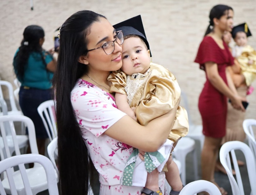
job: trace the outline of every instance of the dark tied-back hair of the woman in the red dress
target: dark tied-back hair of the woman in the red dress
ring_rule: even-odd
[[[226,11],[229,11],[229,10],[233,10],[233,9],[228,5],[222,5],[222,4],[215,5],[211,9],[210,15],[209,15],[210,21],[209,21],[207,30],[205,32],[205,36],[208,35],[210,32],[212,32],[212,30],[213,30],[213,26],[214,26],[213,19],[214,18],[220,19],[221,16],[225,15]]]

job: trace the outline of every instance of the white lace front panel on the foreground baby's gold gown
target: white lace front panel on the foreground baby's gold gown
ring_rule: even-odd
[[[135,95],[137,90],[140,88],[140,86],[144,82],[146,82],[150,73],[148,73],[148,75],[146,77],[142,78],[142,79],[131,79],[131,76],[129,76],[129,75],[127,76],[125,91],[126,91],[126,94],[127,94],[129,105],[131,105],[131,101],[132,101],[133,96]]]

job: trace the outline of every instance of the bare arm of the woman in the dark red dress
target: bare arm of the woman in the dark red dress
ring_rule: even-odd
[[[238,95],[234,94],[232,90],[226,85],[224,80],[220,77],[218,73],[218,65],[214,62],[206,62],[205,69],[207,77],[211,84],[218,91],[220,91],[222,94],[224,94],[231,100],[232,106],[234,108],[245,111],[244,107],[242,106],[241,98]]]

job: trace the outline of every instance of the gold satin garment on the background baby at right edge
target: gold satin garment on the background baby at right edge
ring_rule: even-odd
[[[248,64],[249,60],[253,60],[253,64]],[[245,77],[246,85],[250,86],[256,79],[256,51],[249,45],[245,46],[241,56],[237,57],[237,61]]]

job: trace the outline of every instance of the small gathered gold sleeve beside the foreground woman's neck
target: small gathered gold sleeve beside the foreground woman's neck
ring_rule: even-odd
[[[108,80],[111,81],[111,86],[110,86],[110,93],[120,93],[127,95],[125,92],[125,86],[126,86],[126,74],[121,71],[113,71],[109,76]]]

